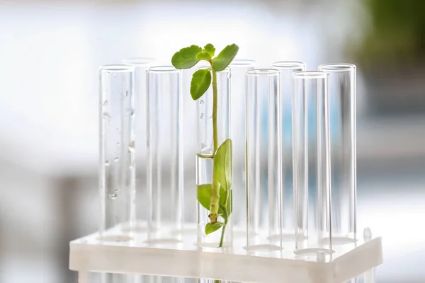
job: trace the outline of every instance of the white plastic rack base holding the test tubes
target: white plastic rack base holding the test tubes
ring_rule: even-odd
[[[79,283],[89,283],[89,272],[252,283],[342,283],[382,264],[380,237],[333,246],[335,253],[326,258],[297,256],[293,243],[286,243],[283,250],[248,255],[244,238],[236,238],[233,248],[202,250],[194,244],[196,233],[184,235],[181,243],[148,244],[145,233],[135,233],[131,241],[98,238],[94,233],[69,243],[69,268],[79,272]]]

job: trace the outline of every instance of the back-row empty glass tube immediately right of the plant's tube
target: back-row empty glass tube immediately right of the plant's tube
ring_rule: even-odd
[[[232,69],[233,226],[234,237],[246,236],[245,194],[245,72],[256,67],[249,59],[234,59]]]

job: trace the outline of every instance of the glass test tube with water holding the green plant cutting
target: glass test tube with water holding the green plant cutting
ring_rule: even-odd
[[[201,67],[202,69],[204,67]],[[231,112],[230,112],[230,69],[226,68],[217,74],[217,120],[214,120],[213,107],[214,93],[212,86],[208,91],[199,98],[198,103],[198,154],[196,154],[196,186],[198,190],[197,207],[198,207],[198,241],[197,246],[201,248],[221,248],[232,246],[233,243],[233,226],[232,226],[232,187],[227,190],[220,188],[220,211],[221,216],[217,221],[226,223],[220,229],[212,233],[206,233],[205,226],[210,222],[210,195],[212,187],[219,185],[214,180],[213,173],[217,148],[227,139],[231,138]],[[216,142],[214,141],[214,124],[217,124]],[[232,146],[230,146],[230,156],[232,156]],[[232,162],[225,161],[225,166],[232,166]],[[225,163],[223,163],[225,164]],[[231,178],[231,176],[230,176]],[[220,185],[221,187],[221,185]],[[202,198],[201,198],[202,197]],[[200,200],[205,200],[200,202]],[[226,213],[223,213],[223,208]],[[227,214],[227,217],[223,217]],[[225,229],[223,229],[225,227]]]

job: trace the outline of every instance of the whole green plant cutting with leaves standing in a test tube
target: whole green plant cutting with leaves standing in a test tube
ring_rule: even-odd
[[[223,71],[234,59],[239,47],[227,45],[216,57],[215,47],[208,43],[205,47],[191,45],[182,48],[171,58],[171,64],[176,69],[190,69],[199,61],[210,63],[208,69],[198,69],[193,73],[191,81],[191,96],[198,100],[212,84],[212,138],[214,167],[212,184],[198,185],[198,202],[210,211],[210,221],[205,225],[205,233],[209,234],[222,228],[219,246],[222,247],[225,229],[232,213],[232,140],[226,139],[218,144],[217,134],[217,71]],[[217,221],[222,216],[223,222]]]

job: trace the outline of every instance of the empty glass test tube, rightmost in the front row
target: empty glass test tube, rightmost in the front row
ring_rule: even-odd
[[[327,74],[293,73],[295,253],[331,254]]]

